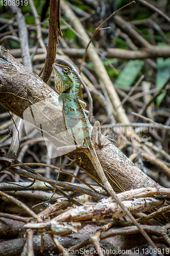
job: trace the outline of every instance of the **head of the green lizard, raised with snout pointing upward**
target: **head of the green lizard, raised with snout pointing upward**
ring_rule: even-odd
[[[74,86],[74,75],[72,70],[60,64],[53,64],[55,74],[55,88],[58,93],[62,93]]]

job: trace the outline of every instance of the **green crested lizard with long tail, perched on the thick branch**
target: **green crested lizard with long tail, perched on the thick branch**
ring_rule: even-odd
[[[74,138],[77,151],[83,152],[91,161],[95,172],[98,174],[102,183],[105,185],[108,193],[112,196],[115,202],[125,211],[126,215],[136,225],[144,238],[157,248],[148,234],[143,230],[140,224],[135,220],[127,207],[117,197],[115,191],[110,185],[108,179],[105,176],[103,168],[100,164],[98,156],[95,152],[94,142],[96,140],[96,133],[98,132],[98,138],[100,135],[100,122],[95,121],[93,129],[84,112],[83,104],[79,100],[78,88],[79,79],[73,74],[73,71],[67,67],[59,64],[53,64],[53,70],[55,73],[55,87],[57,92],[60,93],[59,103],[62,105],[62,113],[64,116],[65,127],[70,136]],[[72,149],[75,150],[75,145]]]

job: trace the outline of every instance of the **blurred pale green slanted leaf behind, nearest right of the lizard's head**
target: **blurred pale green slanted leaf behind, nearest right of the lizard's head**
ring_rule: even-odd
[[[140,70],[144,65],[144,61],[140,59],[129,60],[126,67],[122,70],[120,75],[116,78],[115,84],[121,87],[130,87]]]

